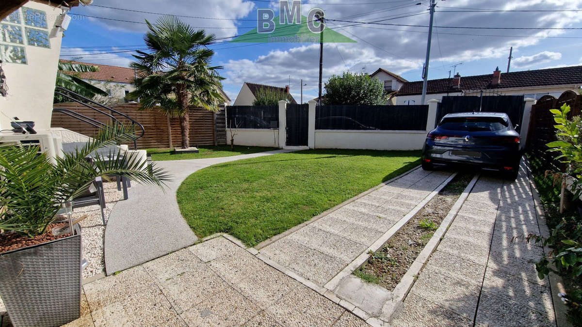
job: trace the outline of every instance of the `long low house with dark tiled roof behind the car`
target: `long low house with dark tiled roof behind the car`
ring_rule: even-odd
[[[546,94],[559,97],[564,91],[582,86],[582,66],[524,70],[502,73],[497,68],[492,74],[460,76],[450,79],[428,80],[427,97],[441,100],[445,95],[524,95],[539,99]],[[421,104],[423,81],[407,82],[396,93],[396,104]]]

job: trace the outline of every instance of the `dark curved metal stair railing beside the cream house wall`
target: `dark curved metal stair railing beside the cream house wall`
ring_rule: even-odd
[[[127,119],[127,120],[129,120],[131,122],[132,126],[134,127],[134,133],[136,134],[136,136],[138,138],[144,136],[144,134],[145,134],[144,126],[141,125],[139,122],[137,122],[135,119],[131,118],[130,116],[127,116],[123,112],[116,111],[115,109],[109,108],[108,106],[104,106],[104,105],[102,105],[102,104],[100,104],[98,102],[95,102],[95,101],[93,101],[93,100],[91,100],[89,98],[83,97],[83,95],[80,95],[78,93],[74,93],[73,91],[68,90],[68,89],[66,89],[64,87],[60,87],[60,86],[56,87],[55,88],[55,94],[61,95],[62,97],[68,98],[71,101],[74,101],[74,102],[77,102],[78,104],[81,104],[83,106],[86,106],[87,108],[92,109],[93,111],[96,111],[96,112],[101,113],[102,115],[108,116],[108,118],[111,118],[113,120],[113,122],[121,123],[119,121],[119,119],[115,118],[115,116],[113,116],[113,115],[122,116],[123,118],[125,118],[125,119]],[[91,106],[90,104],[88,104],[87,102],[89,102],[90,104],[99,106],[100,108],[104,109],[105,111],[103,111],[101,109],[97,109],[94,106]],[[56,105],[58,105],[58,104],[56,104]],[[81,120],[81,122],[88,123],[89,125],[94,126],[94,127],[97,127],[99,129],[104,129],[105,126],[107,126],[107,124],[105,124],[105,123],[102,123],[102,122],[100,122],[98,120],[95,120],[93,118],[89,118],[89,117],[87,117],[85,115],[82,115],[81,113],[71,111],[69,109],[53,108],[52,110],[53,111],[56,111],[56,112],[61,112],[61,113],[65,114],[65,115],[67,115],[67,116],[70,116],[72,118]],[[106,111],[109,111],[111,113],[107,113]],[[139,132],[136,133],[135,127],[138,127],[139,129],[141,129],[141,133],[139,133]],[[137,150],[137,141],[136,140],[133,141],[133,147],[134,147],[135,150]]]

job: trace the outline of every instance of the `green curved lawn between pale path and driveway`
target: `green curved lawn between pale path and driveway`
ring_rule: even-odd
[[[420,151],[306,150],[210,166],[178,189],[198,237],[225,232],[249,246],[418,165]]]

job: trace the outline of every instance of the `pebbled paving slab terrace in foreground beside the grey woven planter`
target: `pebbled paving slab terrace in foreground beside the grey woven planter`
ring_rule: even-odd
[[[219,238],[226,242],[207,240],[87,283],[81,318],[68,326],[364,326],[336,302]]]

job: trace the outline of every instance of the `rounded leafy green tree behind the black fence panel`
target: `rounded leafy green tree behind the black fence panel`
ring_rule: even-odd
[[[329,105],[384,105],[388,100],[382,82],[365,73],[333,75],[324,88],[322,100]]]

